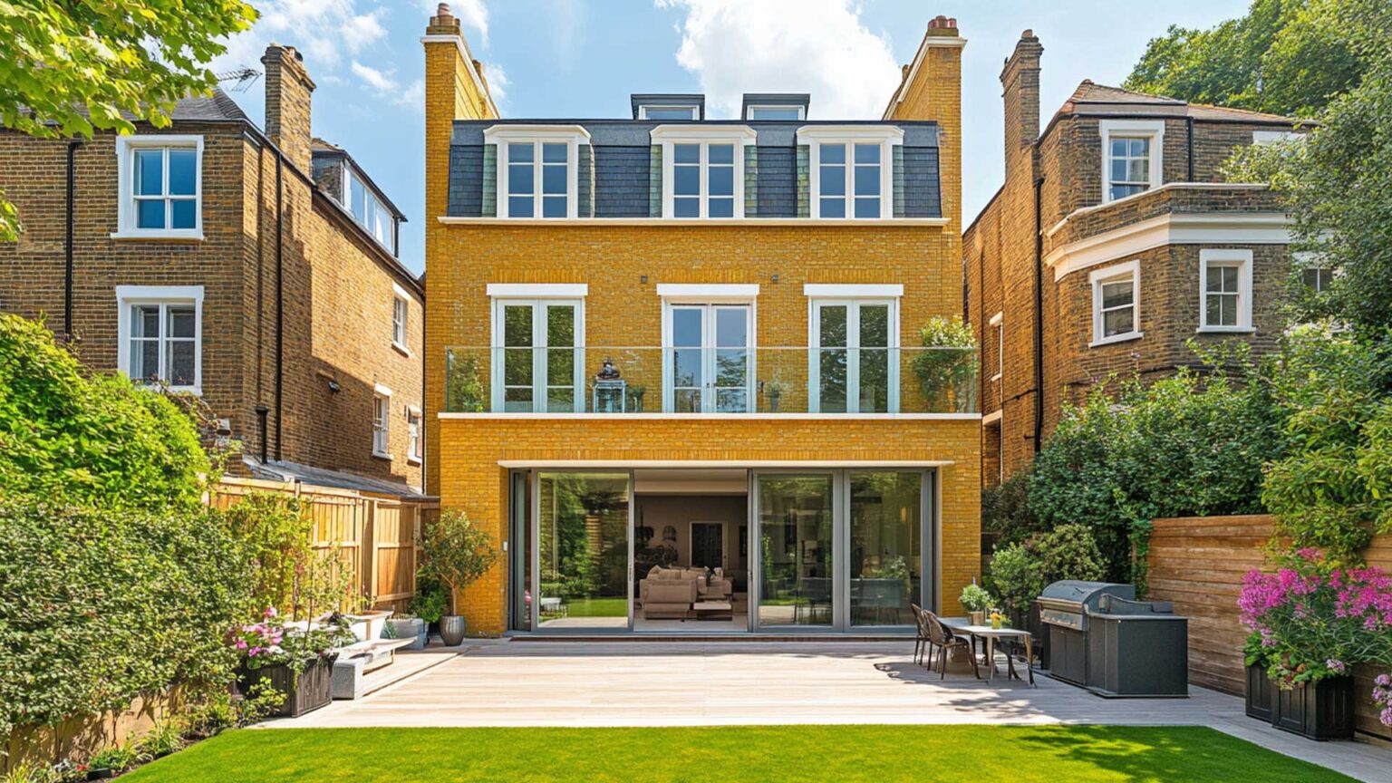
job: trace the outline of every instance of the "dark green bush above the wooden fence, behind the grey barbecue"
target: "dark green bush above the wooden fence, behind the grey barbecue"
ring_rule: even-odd
[[[1281,450],[1281,415],[1264,373],[1240,348],[1235,382],[1210,355],[1210,372],[1098,386],[1063,418],[1036,457],[1030,510],[1057,528],[1093,528],[1112,581],[1137,580],[1132,542],[1157,517],[1261,511],[1263,463]]]

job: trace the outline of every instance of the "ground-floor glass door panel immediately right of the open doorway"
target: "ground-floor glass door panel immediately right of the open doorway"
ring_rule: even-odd
[[[834,475],[754,478],[759,626],[835,623]]]

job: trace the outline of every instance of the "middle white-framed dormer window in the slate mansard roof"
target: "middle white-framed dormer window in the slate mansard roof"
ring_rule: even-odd
[[[651,137],[663,148],[663,217],[745,216],[743,148],[754,144],[752,128],[658,125]]]

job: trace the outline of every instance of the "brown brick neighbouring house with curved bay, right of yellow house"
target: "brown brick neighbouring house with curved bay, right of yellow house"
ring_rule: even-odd
[[[1005,184],[962,237],[987,485],[1114,373],[1200,365],[1189,340],[1270,350],[1289,279],[1278,199],[1221,166],[1297,121],[1084,81],[1040,132],[1043,52],[1026,31],[1005,61]]]

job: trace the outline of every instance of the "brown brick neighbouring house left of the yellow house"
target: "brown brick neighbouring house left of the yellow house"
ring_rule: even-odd
[[[262,63],[264,131],[216,91],[131,135],[0,132],[25,226],[0,245],[0,308],[89,366],[202,396],[244,443],[232,472],[418,493],[425,290],[395,256],[404,216],[310,135],[299,53]]]

